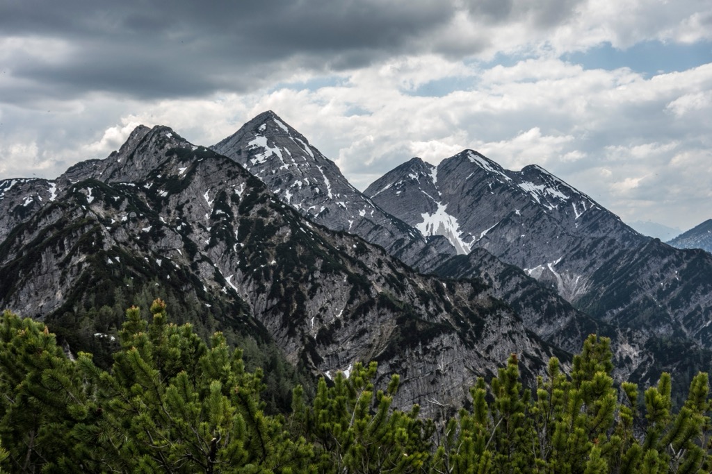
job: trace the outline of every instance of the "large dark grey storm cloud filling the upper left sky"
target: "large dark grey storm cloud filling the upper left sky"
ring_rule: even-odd
[[[345,70],[412,48],[454,9],[423,1],[10,1],[5,37],[55,40],[59,58],[31,55],[6,65],[3,95],[130,97],[244,92],[280,71]],[[20,91],[18,91],[20,90]],[[17,93],[23,92],[23,93]]]

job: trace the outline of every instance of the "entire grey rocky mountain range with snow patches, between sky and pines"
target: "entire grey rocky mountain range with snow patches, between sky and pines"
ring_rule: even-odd
[[[0,242],[0,307],[68,350],[109,350],[123,309],[161,296],[179,321],[315,375],[377,360],[402,375],[397,403],[428,414],[510,353],[533,382],[589,333],[612,338],[620,379],[712,364],[707,252],[471,150],[413,158],[361,193],[273,112],[208,148],[139,126],[56,180],[0,181]]]

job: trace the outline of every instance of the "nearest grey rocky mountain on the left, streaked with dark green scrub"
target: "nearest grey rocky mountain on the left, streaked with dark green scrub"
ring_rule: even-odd
[[[0,245],[0,272],[11,275],[0,306],[49,318],[143,275],[206,312],[222,305],[211,314],[230,330],[263,328],[315,373],[377,360],[382,377],[402,375],[399,405],[425,414],[461,406],[475,377],[511,352],[530,380],[554,353],[478,281],[423,276],[311,222],[238,163],[165,127],[139,128],[117,153],[70,172]]]

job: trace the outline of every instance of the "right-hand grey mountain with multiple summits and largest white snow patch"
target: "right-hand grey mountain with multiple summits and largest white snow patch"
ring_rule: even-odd
[[[634,345],[666,335],[712,348],[706,337],[712,322],[708,257],[639,235],[543,168],[507,171],[474,151],[437,167],[414,158],[365,194],[425,235],[444,235],[461,253],[486,249],[591,316],[626,333],[634,330]],[[460,260],[439,274],[484,276],[485,260],[477,254],[468,260],[470,269]],[[507,301],[518,305],[515,294]],[[531,324],[550,337],[546,321]]]

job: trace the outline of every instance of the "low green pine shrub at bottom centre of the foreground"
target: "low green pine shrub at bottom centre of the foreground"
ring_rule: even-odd
[[[399,377],[386,391],[375,391],[377,365],[356,363],[346,378],[337,372],[333,386],[320,379],[313,406],[294,394],[292,421],[298,433],[313,443],[320,473],[413,473],[429,458],[432,422],[391,408]]]

